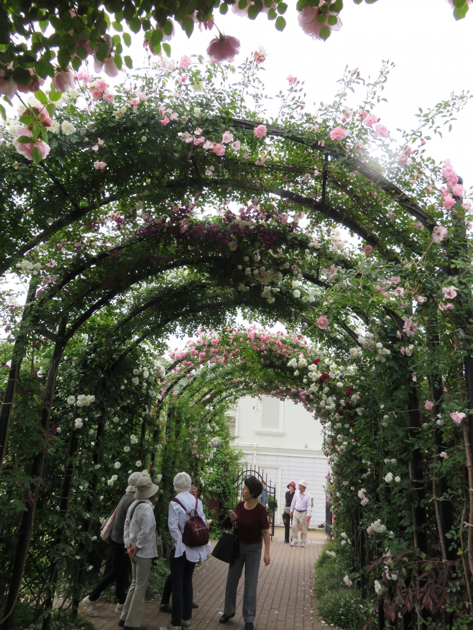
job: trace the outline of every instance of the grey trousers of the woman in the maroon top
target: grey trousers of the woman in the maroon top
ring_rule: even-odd
[[[240,542],[240,558],[228,567],[225,590],[225,609],[223,614],[235,614],[237,608],[238,581],[245,565],[245,590],[243,592],[243,619],[245,623],[253,622],[256,616],[256,588],[258,586],[259,563],[262,542],[243,545]]]

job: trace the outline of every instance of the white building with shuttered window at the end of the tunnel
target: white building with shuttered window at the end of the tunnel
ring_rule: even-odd
[[[322,452],[322,428],[301,404],[271,396],[240,398],[227,411],[232,444],[245,453],[249,466],[264,469],[272,485],[276,481],[276,524],[282,524],[284,495],[289,481],[308,483],[313,498],[310,527],[325,522],[325,475],[327,458]]]

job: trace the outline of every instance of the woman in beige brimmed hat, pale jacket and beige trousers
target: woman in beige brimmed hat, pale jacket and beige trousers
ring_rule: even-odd
[[[146,630],[141,625],[144,612],[144,596],[148,587],[149,571],[153,558],[158,556],[156,547],[156,519],[153,503],[149,500],[159,490],[146,476],[136,482],[134,501],[125,519],[124,543],[131,559],[132,580],[127,599],[120,616],[119,626],[124,630]]]

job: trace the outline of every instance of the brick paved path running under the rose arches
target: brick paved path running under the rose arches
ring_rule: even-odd
[[[258,600],[255,619],[257,630],[322,630],[313,610],[312,596],[314,566],[322,553],[325,536],[320,532],[308,532],[306,547],[290,547],[284,544],[284,530],[276,527],[271,542],[271,564],[265,567],[261,558]],[[237,594],[237,614],[226,625],[219,624],[223,612],[228,564],[213,556],[194,571],[194,601],[199,608],[192,617],[193,630],[242,630],[244,570]],[[160,612],[160,599],[145,604],[143,624],[148,630],[158,630],[170,621],[170,615]],[[119,615],[115,604],[100,604],[100,617],[93,622],[98,630],[118,629]],[[81,612],[84,612],[81,610]],[[326,627],[326,626],[325,626]]]

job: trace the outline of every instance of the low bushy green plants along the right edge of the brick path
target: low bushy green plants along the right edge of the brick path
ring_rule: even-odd
[[[334,552],[335,558],[327,551]],[[347,587],[343,581],[348,575],[355,582],[353,561],[351,547],[342,547],[336,541],[327,542],[315,565],[314,593],[321,619],[346,630],[362,630],[373,603],[369,599],[363,601],[356,586]]]

